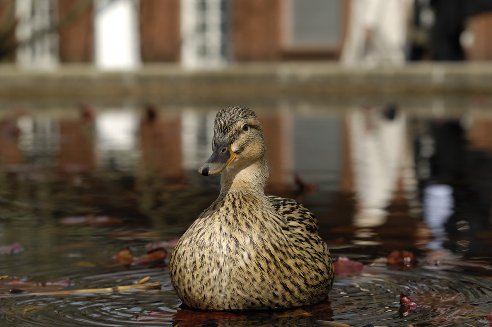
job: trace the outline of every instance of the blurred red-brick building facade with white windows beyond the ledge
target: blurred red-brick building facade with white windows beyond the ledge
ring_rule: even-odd
[[[340,58],[353,1],[7,0],[0,3],[0,17],[8,21],[14,15],[18,23],[3,24],[0,36],[11,36],[0,37],[0,55],[25,67],[103,63],[104,68],[105,62],[123,61],[123,53],[122,65],[130,68],[155,62],[208,68],[333,61]],[[474,38],[468,59],[492,59],[486,33],[491,25],[491,14],[469,24]]]

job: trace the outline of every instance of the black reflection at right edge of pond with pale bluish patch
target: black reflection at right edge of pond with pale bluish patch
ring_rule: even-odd
[[[492,207],[491,137],[486,130],[492,127],[490,118],[476,111],[422,126],[415,153],[419,185],[433,199],[424,206],[434,235],[429,246],[480,252],[485,246],[480,235],[490,224]]]

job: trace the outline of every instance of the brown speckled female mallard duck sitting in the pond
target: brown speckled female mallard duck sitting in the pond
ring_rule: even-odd
[[[266,145],[251,109],[215,116],[212,156],[220,195],[179,240],[169,263],[183,302],[203,310],[293,308],[327,297],[333,264],[316,218],[301,203],[266,196]]]

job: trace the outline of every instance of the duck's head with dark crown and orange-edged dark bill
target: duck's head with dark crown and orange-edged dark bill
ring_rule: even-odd
[[[254,112],[232,106],[215,116],[212,156],[198,169],[204,176],[218,174],[228,166],[241,168],[264,160],[265,136]]]

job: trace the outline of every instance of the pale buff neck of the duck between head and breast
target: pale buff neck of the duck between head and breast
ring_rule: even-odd
[[[248,192],[263,196],[268,178],[266,156],[244,166],[229,165],[220,177],[220,193]]]

